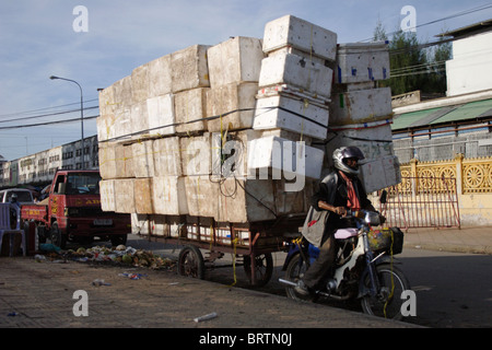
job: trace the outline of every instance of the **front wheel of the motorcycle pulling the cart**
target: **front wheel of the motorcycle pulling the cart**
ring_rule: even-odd
[[[390,264],[376,266],[377,278],[379,280],[380,293],[378,295],[365,295],[362,298],[362,310],[365,314],[391,318],[399,320],[401,315],[402,300],[401,293],[410,290],[410,283],[407,277],[397,267]],[[393,280],[391,280],[393,278]],[[367,275],[365,285],[370,287],[370,277]]]

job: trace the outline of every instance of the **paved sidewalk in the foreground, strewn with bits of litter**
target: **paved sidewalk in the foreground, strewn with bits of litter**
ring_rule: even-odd
[[[122,277],[126,269],[142,273]],[[104,280],[103,285],[95,280]],[[87,315],[77,316],[87,294]],[[196,317],[216,313],[212,319]],[[358,312],[296,303],[285,296],[185,278],[173,271],[67,261],[36,262],[33,257],[0,258],[0,328],[202,328],[185,339],[198,345],[209,328],[413,328]],[[251,330],[256,331],[256,330]],[[298,339],[296,339],[298,340]]]

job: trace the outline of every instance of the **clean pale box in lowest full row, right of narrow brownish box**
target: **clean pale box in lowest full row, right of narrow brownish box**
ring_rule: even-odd
[[[188,214],[185,178],[159,176],[152,178],[152,205],[154,213],[166,215]]]

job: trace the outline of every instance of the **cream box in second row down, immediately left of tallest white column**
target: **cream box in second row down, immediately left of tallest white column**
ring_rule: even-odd
[[[220,118],[207,121],[208,130],[224,131],[250,128],[257,91],[258,83],[231,83],[208,90],[207,117],[220,116]]]

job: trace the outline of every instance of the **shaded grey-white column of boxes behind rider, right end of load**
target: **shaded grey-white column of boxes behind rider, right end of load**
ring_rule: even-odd
[[[367,192],[400,183],[393,150],[391,91],[376,88],[389,79],[389,51],[385,43],[339,44],[327,136],[327,163],[341,145],[364,153],[361,177]]]

